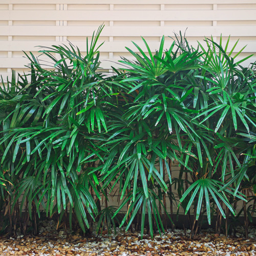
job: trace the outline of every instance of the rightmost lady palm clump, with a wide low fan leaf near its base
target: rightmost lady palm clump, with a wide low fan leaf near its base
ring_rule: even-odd
[[[206,212],[210,223],[211,198],[218,207],[217,211],[224,218],[222,203],[235,214],[224,192],[245,200],[241,194],[237,193],[241,178],[245,176],[250,161],[244,154],[251,152],[251,146],[238,132],[246,131],[249,135],[249,131],[255,126],[253,102],[255,74],[251,69],[240,66],[240,63],[247,58],[236,62],[234,58],[237,55],[234,58],[230,56],[234,47],[229,54],[226,53],[229,39],[225,50],[222,48],[222,40],[220,45],[209,39],[206,42],[207,50],[200,45],[204,54],[200,70],[193,77],[193,81],[199,84],[199,88],[195,90],[194,97],[191,97],[194,108],[199,110],[198,113],[193,114],[192,119],[198,121],[196,130],[201,137],[197,139],[195,148],[198,160],[193,159],[197,162],[196,165],[190,162],[196,167],[194,183],[182,196],[181,201],[195,188],[194,193],[190,195],[186,212],[196,199],[198,203],[195,212],[198,220],[205,194]],[[200,93],[202,94],[201,102],[198,101]],[[206,127],[201,129],[201,124],[205,124]],[[187,139],[189,141],[189,138]],[[193,150],[193,145],[190,148]],[[197,195],[198,192],[199,195]]]

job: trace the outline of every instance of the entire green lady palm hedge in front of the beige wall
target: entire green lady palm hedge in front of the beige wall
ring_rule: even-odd
[[[98,232],[120,224],[143,236],[146,221],[153,236],[178,206],[191,234],[204,216],[209,224],[216,216],[216,232],[226,218],[228,233],[239,201],[248,232],[256,190],[254,63],[241,66],[248,57],[236,61],[243,49],[233,56],[237,43],[228,50],[229,40],[206,39],[194,49],[176,36],[164,50],[162,37],[153,53],[142,38],[148,55],[134,43],[136,52],[127,48],[134,60],[122,58],[122,69],[104,74],[102,29],[87,41],[86,56],[71,43],[42,48],[50,62],[26,54],[30,74],[3,81],[2,232],[26,232],[29,220],[36,232],[46,214],[83,232],[98,221]],[[108,203],[113,191],[118,208]]]

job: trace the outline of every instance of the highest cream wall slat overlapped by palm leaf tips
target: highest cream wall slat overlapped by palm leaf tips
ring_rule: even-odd
[[[2,26],[0,36],[90,36],[98,27],[81,27],[81,26]],[[136,28],[136,29],[135,29]],[[24,31],[26,30],[26,34]],[[162,36],[173,35],[176,33],[186,31],[186,36],[248,36],[248,31],[245,26],[221,26],[209,27],[198,26],[114,26],[104,27],[101,36]],[[250,26],[250,36],[256,36],[256,26]],[[36,38],[35,38],[36,39]]]

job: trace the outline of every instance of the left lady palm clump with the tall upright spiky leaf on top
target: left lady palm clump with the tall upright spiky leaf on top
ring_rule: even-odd
[[[14,179],[12,208],[19,203],[21,213],[28,204],[31,218],[32,209],[60,217],[69,209],[70,225],[74,212],[83,231],[87,216],[97,214],[90,188],[100,199],[100,187],[92,170],[107,152],[100,134],[107,131],[104,112],[112,97],[112,84],[96,73],[101,30],[84,57],[72,44],[41,50],[52,61],[47,66],[27,55],[31,74],[1,90],[2,169]]]

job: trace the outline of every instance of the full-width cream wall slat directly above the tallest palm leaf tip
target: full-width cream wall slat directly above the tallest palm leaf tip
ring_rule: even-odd
[[[254,20],[256,10],[2,11],[0,20]]]

